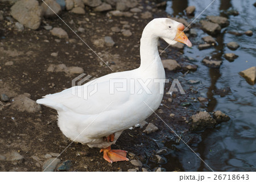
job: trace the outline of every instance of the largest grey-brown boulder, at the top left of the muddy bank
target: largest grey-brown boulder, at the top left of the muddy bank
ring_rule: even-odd
[[[11,7],[11,15],[25,27],[36,30],[42,20],[43,11],[36,0],[21,0]]]

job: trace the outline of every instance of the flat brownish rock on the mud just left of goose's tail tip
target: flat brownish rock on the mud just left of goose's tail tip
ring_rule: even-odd
[[[20,112],[27,111],[28,113],[38,113],[41,110],[41,106],[23,94],[13,98],[11,109]]]

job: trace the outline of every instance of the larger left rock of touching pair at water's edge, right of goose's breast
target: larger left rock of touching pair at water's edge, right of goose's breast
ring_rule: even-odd
[[[214,127],[217,124],[217,122],[210,117],[210,114],[204,111],[192,115],[191,119],[190,130],[192,131],[201,131],[207,127]]]

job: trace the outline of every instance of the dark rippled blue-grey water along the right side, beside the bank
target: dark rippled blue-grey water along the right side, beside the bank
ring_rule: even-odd
[[[195,16],[201,13],[212,0],[173,0],[167,1],[166,11],[175,16],[184,16],[183,10],[187,6],[196,6]],[[197,46],[192,49],[185,48],[184,56],[194,57],[198,60],[199,68],[187,77],[201,81],[200,94],[210,101],[208,111],[221,110],[228,114],[229,122],[221,123],[213,130],[202,134],[202,141],[193,149],[214,171],[256,171],[256,89],[249,85],[238,72],[256,66],[256,7],[254,0],[216,0],[204,11],[199,19],[207,15],[221,15],[229,19],[230,25],[222,28],[222,33],[215,38],[218,46],[199,51]],[[235,9],[238,16],[227,16],[224,11]],[[199,21],[196,20],[196,21]],[[198,36],[189,38],[192,44],[203,43],[201,38],[207,36],[202,30],[197,29]],[[252,30],[253,36],[236,36],[227,31]],[[231,51],[226,43],[235,41],[240,48]],[[233,52],[239,57],[233,62],[225,60],[224,53]],[[205,67],[201,60],[205,56],[214,56],[223,60],[220,69]],[[231,93],[225,97],[214,94],[213,90],[230,87]],[[186,146],[180,146],[179,162],[185,171],[210,171],[210,169],[197,158]]]

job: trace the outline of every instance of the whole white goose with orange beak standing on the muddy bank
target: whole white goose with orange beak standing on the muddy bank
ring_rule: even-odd
[[[57,110],[60,130],[69,139],[102,148],[104,159],[110,163],[128,160],[126,151],[111,150],[110,146],[123,130],[158,109],[164,91],[164,83],[159,79],[166,78],[158,53],[158,39],[191,47],[183,30],[183,24],[175,20],[153,19],[142,33],[139,68],[111,73],[84,85],[48,94],[36,102]],[[97,92],[87,96],[95,88]]]

